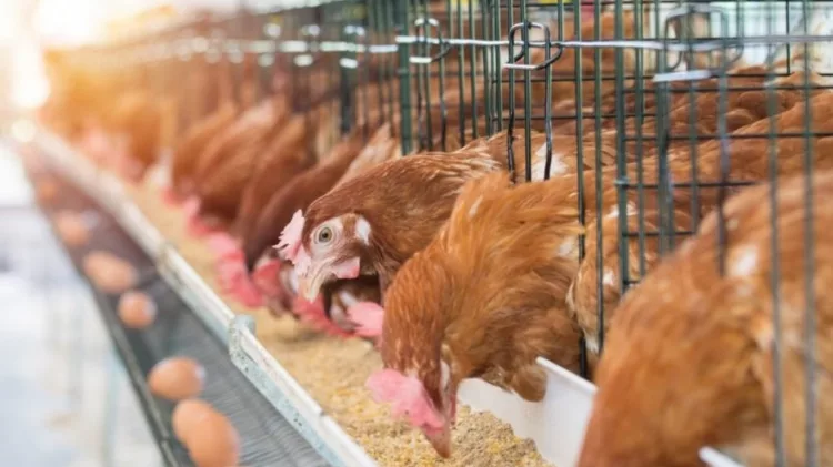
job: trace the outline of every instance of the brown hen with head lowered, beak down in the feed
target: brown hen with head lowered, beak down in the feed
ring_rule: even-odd
[[[385,293],[387,369],[369,388],[378,400],[411,406],[409,413],[430,407],[441,423],[422,428],[443,456],[464,378],[541,400],[546,376],[539,356],[579,370],[580,332],[563,296],[578,266],[564,238],[580,230],[550,185],[512,187],[505,173],[469,183],[448,223]],[[380,378],[409,380],[416,390],[385,396]]]

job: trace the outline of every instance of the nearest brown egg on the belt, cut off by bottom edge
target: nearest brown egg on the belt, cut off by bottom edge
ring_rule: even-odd
[[[225,416],[209,414],[191,427],[185,447],[197,467],[231,467],[240,457],[240,436]]]

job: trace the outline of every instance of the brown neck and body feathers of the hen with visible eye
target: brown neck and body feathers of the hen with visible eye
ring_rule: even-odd
[[[495,170],[500,163],[478,152],[410,155],[378,164],[310,204],[304,247],[309,251],[310,236],[321,223],[361,215],[371,225],[370,245],[351,241],[339,255],[361,257],[363,273],[378,274],[384,287],[445,222],[462,185]]]

